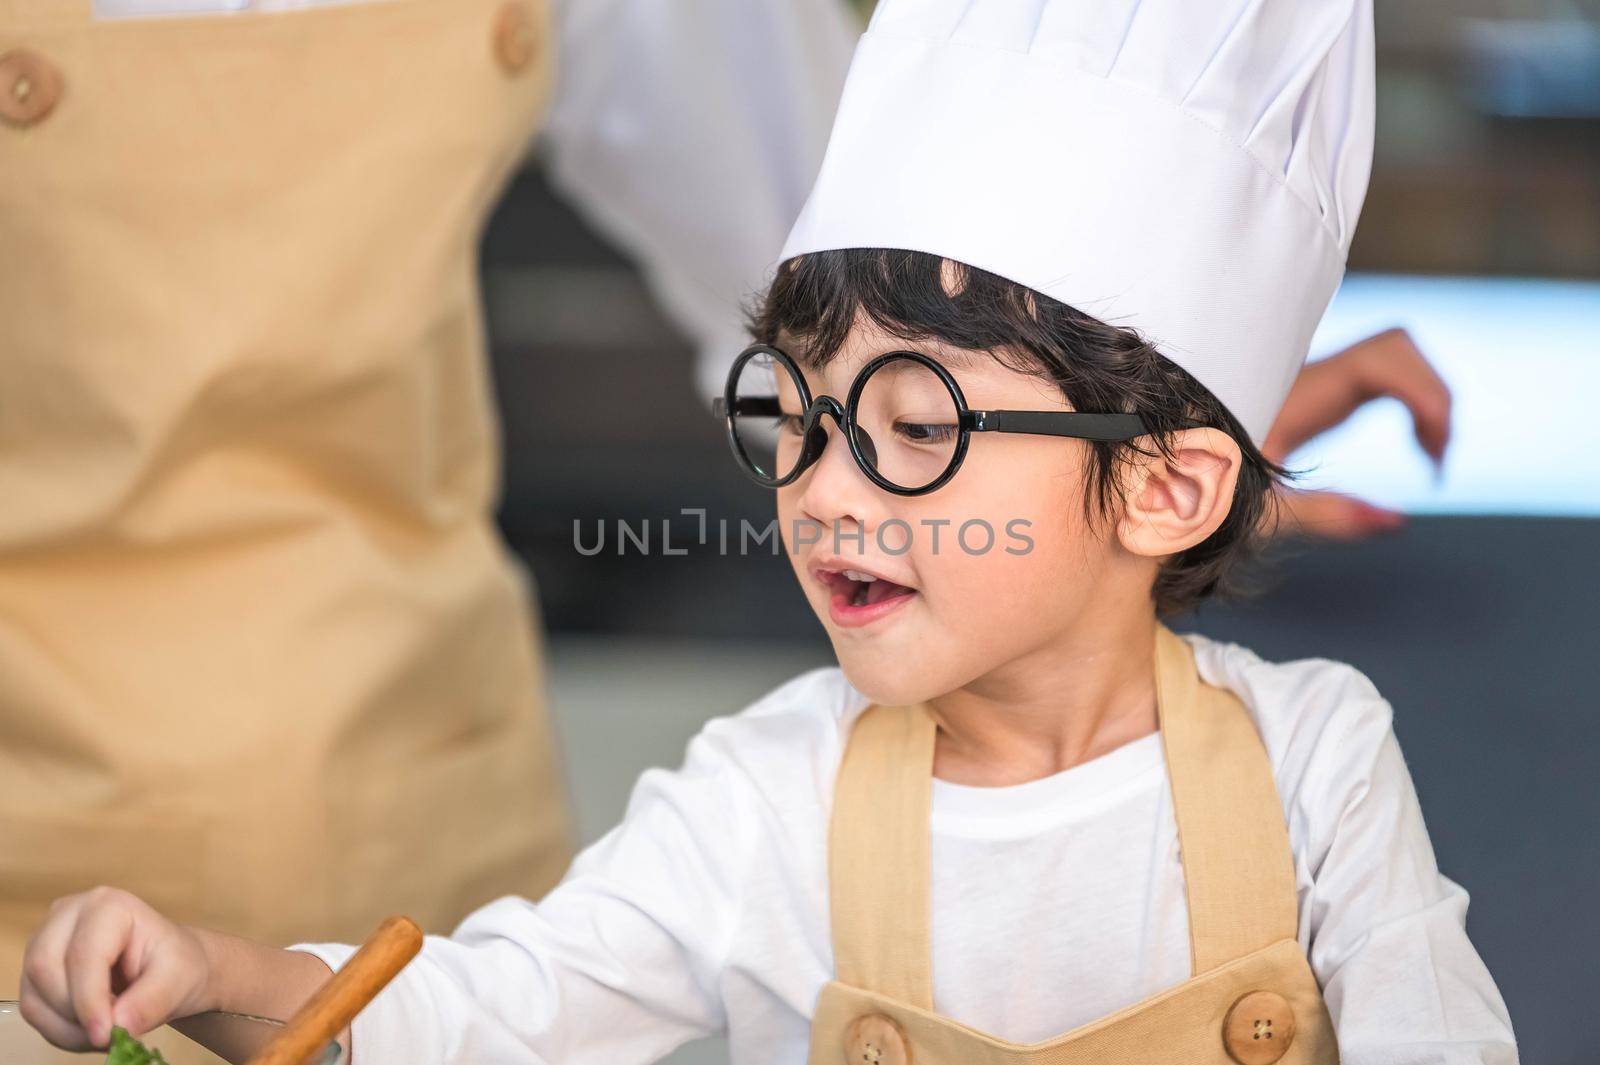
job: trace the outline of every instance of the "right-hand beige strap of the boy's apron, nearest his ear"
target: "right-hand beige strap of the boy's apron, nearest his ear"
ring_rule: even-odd
[[[1294,939],[1294,859],[1272,761],[1238,696],[1202,683],[1194,648],[1166,625],[1155,630],[1155,667],[1198,975]]]

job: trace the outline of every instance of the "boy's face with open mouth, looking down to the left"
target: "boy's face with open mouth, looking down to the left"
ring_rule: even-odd
[[[843,401],[861,366],[906,349],[941,361],[973,409],[1072,409],[1048,377],[866,323],[826,366],[802,368],[813,397]],[[782,406],[792,411],[795,398]],[[1085,520],[1085,441],[971,433],[954,480],[925,496],[896,496],[867,480],[832,419],[822,424],[827,448],[778,489],[778,517],[811,609],[845,675],[869,697],[942,696],[1045,651],[1091,622],[1091,611],[1138,608],[1131,596],[1150,609],[1150,560],[1120,550],[1115,534],[1096,534]],[[846,569],[898,587],[862,592]]]

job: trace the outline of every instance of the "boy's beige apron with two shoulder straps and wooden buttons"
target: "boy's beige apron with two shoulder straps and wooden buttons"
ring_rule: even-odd
[[[837,979],[810,1065],[1336,1065],[1333,1023],[1294,939],[1294,868],[1272,766],[1235,696],[1157,627],[1157,705],[1189,900],[1194,977],[1032,1044],[933,1012],[928,809],[938,726],[872,707],[840,766],[829,840]]]

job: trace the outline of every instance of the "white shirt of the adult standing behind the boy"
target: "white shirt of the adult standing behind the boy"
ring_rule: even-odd
[[[99,18],[390,0],[93,0]],[[845,0],[554,0],[552,184],[632,256],[718,395],[800,214],[861,22]],[[286,14],[293,18],[293,14]],[[352,72],[358,77],[358,72]],[[381,181],[374,176],[374,181]]]

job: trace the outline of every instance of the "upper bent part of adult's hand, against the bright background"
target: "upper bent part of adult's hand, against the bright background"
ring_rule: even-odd
[[[1381,397],[1405,405],[1418,443],[1435,464],[1442,462],[1450,445],[1450,387],[1405,329],[1386,329],[1309,363],[1294,379],[1262,451],[1282,462]]]

